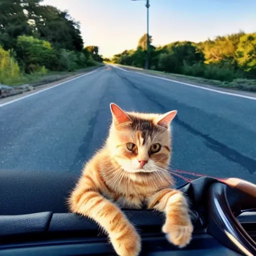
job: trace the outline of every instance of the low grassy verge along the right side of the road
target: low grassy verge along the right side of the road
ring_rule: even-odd
[[[211,86],[222,87],[222,88],[239,89],[239,90],[256,92],[256,79],[236,78],[236,79],[233,79],[232,81],[220,81],[220,80],[206,79],[202,77],[190,76],[190,75],[184,75],[184,74],[167,73],[167,72],[151,70],[151,69],[146,70],[139,67],[127,66],[127,65],[121,65],[121,64],[115,64],[115,65],[122,66],[126,69],[133,69],[142,73],[168,77],[170,79],[177,80],[177,81],[192,82],[198,85],[211,85]]]

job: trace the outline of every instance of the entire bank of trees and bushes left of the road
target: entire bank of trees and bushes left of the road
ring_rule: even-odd
[[[0,0],[0,82],[23,73],[72,71],[101,62],[83,47],[79,22],[42,0]]]

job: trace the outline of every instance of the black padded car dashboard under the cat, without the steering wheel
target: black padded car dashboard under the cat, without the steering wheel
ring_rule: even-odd
[[[66,197],[77,178],[56,172],[0,173],[0,256],[115,255],[103,230],[92,220],[66,209]],[[215,181],[199,178],[180,188],[191,200],[194,225],[192,240],[182,249],[170,244],[161,232],[162,213],[122,209],[141,235],[140,255],[244,255],[226,244],[223,233],[213,231],[215,226],[210,228],[207,191]],[[231,191],[233,197],[235,193]],[[255,240],[254,213],[244,212],[238,219]]]

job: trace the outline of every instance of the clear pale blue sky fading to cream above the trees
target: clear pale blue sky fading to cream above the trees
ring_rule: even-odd
[[[84,45],[98,45],[111,57],[137,45],[146,32],[145,1],[44,0],[69,10],[80,21]],[[256,31],[256,0],[150,0],[149,34],[153,44],[201,41],[216,35]]]

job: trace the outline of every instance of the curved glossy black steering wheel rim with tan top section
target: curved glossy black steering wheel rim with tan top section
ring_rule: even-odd
[[[256,242],[248,235],[236,219],[227,200],[227,186],[235,187],[247,195],[256,196],[256,186],[245,180],[221,180],[209,187],[208,194],[208,232],[221,243],[242,255],[256,255]],[[239,182],[234,182],[239,181]],[[246,185],[249,183],[249,187]]]

